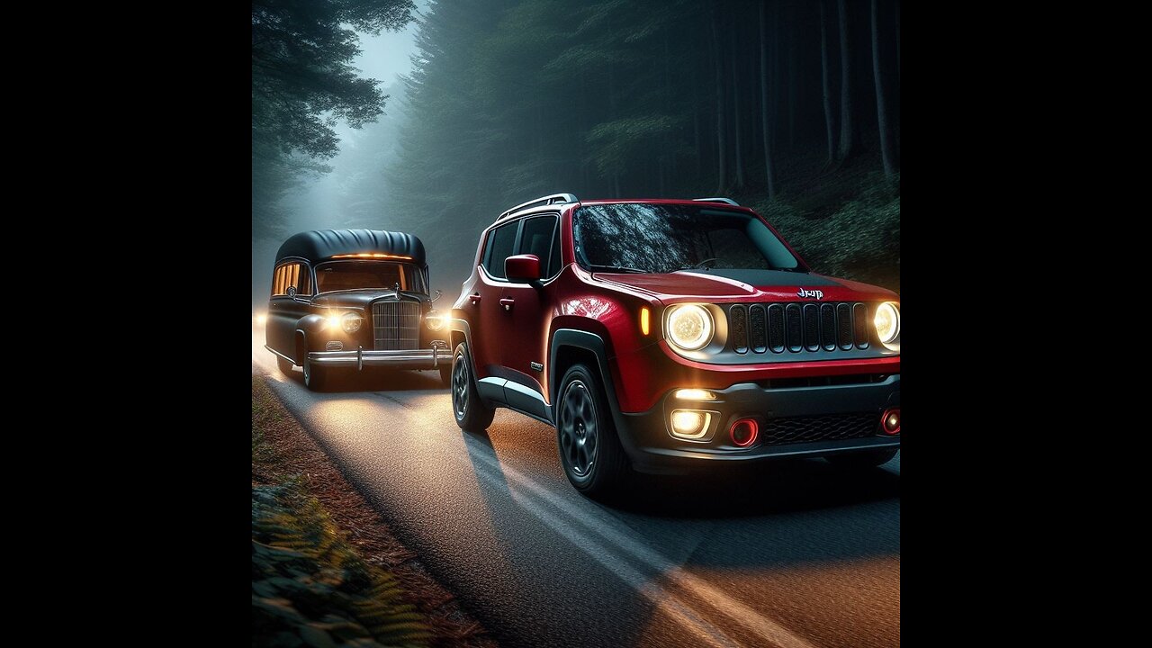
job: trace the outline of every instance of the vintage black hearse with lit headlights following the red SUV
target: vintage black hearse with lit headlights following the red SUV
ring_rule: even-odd
[[[365,367],[438,369],[448,384],[452,349],[432,308],[424,243],[382,229],[319,229],[289,238],[276,253],[265,348],[280,370],[304,368],[323,390],[333,371]]]

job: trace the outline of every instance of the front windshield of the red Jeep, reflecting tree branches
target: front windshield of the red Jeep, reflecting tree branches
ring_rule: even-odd
[[[584,205],[573,214],[573,236],[577,263],[592,271],[799,270],[760,219],[703,205]]]

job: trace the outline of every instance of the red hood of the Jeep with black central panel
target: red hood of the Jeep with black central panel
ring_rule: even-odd
[[[847,279],[782,270],[694,270],[666,274],[629,274],[596,272],[600,281],[627,286],[647,293],[660,301],[856,301],[899,300],[896,293]],[[818,291],[819,297],[801,288]]]

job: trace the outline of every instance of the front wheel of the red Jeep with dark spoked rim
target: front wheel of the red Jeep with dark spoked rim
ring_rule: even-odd
[[[611,497],[629,469],[599,374],[576,364],[564,374],[558,393],[556,449],[564,475],[589,497]]]

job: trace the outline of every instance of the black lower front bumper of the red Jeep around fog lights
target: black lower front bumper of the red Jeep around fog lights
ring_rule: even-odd
[[[741,383],[726,390],[710,390],[715,400],[681,400],[669,391],[649,412],[617,414],[616,428],[632,466],[646,473],[683,472],[706,467],[713,461],[756,461],[785,457],[826,457],[841,452],[900,447],[900,435],[889,436],[880,417],[890,407],[900,407],[900,375],[878,383],[768,389]],[[672,436],[669,416],[674,409],[699,409],[712,414],[708,432],[702,440]],[[843,415],[843,416],[838,416]],[[740,419],[755,419],[761,431],[772,420],[828,416],[829,420],[871,416],[874,427],[851,438],[816,438],[802,442],[773,442],[761,435],[751,446],[736,447],[728,435]],[[810,420],[809,420],[810,421]],[[817,435],[809,435],[817,436]]]

